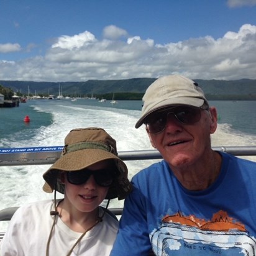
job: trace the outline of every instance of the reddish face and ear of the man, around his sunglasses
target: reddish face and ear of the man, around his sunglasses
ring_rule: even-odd
[[[161,112],[154,113],[155,117],[153,118],[156,119],[153,121],[155,124],[157,122],[162,124],[166,121],[162,131],[152,133],[150,128],[155,129],[156,127],[146,125],[152,146],[161,153],[171,168],[191,165],[202,159],[211,149],[210,134],[213,134],[217,128],[217,111],[215,107],[210,107],[208,111],[198,110],[198,121],[192,124],[190,122],[193,122],[193,118],[190,118],[189,114],[197,115],[193,109],[191,111],[188,109],[188,114],[187,116],[185,114],[184,118],[183,114],[176,109],[170,109],[170,114],[165,117],[162,116],[164,121],[162,119],[157,120],[157,116],[161,117]],[[186,124],[178,119],[185,121]]]

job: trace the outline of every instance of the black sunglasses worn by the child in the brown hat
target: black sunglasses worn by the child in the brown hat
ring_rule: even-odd
[[[73,185],[82,185],[89,180],[91,175],[99,186],[111,186],[114,181],[114,171],[109,169],[68,171],[66,178]]]

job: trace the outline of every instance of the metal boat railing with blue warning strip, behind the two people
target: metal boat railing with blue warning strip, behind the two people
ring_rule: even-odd
[[[256,146],[252,147],[213,147],[213,150],[231,153],[237,156],[256,156]],[[0,167],[15,165],[51,165],[62,152],[62,146],[56,147],[29,147],[0,149]],[[157,150],[124,151],[118,153],[124,161],[161,159]],[[1,170],[0,170],[1,171]],[[0,221],[9,221],[17,207],[2,209]],[[122,214],[122,208],[110,209],[116,215]]]

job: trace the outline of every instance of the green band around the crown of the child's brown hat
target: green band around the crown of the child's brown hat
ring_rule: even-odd
[[[101,142],[79,142],[69,146],[65,145],[65,147],[63,147],[62,150],[62,155],[65,155],[65,153],[70,153],[82,149],[101,149],[107,152],[115,153],[115,150],[113,147],[111,147],[111,145],[108,146]]]

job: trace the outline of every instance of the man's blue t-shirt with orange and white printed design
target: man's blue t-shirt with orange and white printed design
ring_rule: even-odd
[[[181,186],[165,160],[137,173],[111,255],[256,255],[256,163],[219,153],[203,191]]]

